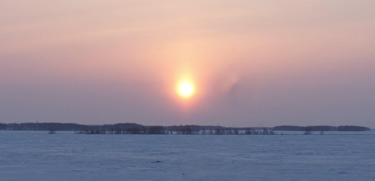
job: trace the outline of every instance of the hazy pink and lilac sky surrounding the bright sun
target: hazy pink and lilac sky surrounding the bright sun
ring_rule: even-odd
[[[374,0],[1,0],[0,122],[375,128]],[[176,86],[195,87],[181,98]]]

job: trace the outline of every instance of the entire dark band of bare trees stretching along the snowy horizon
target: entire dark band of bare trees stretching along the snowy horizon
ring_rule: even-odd
[[[144,126],[136,123],[84,125],[77,123],[28,122],[0,123],[0,130],[76,131],[77,133],[81,134],[274,134],[273,131],[370,131],[371,129],[368,127],[349,125],[338,127],[328,125],[306,127],[282,125],[275,126],[273,128],[233,128],[212,125]]]

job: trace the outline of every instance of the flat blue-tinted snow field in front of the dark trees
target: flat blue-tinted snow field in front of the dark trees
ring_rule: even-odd
[[[375,135],[19,133],[0,180],[375,180]]]

